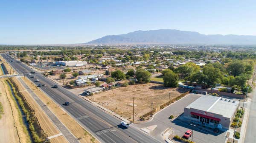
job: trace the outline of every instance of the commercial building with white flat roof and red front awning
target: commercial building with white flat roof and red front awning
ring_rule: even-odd
[[[239,101],[202,95],[184,108],[184,119],[191,123],[218,128],[229,129],[238,108]]]

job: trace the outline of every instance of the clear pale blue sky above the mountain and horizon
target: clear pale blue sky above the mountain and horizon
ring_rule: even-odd
[[[0,0],[0,44],[83,43],[137,30],[256,35],[255,0]]]

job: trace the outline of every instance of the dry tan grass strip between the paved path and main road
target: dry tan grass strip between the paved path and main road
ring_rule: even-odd
[[[24,78],[22,78],[24,80]],[[65,114],[64,110],[57,107],[54,101],[39,90],[29,79],[25,78],[25,83],[38,95],[38,97],[47,105],[47,107],[55,114],[55,116],[72,132],[72,134],[79,139],[80,143],[92,143],[94,137],[92,137],[79,123],[77,123],[68,114]],[[47,104],[48,103],[48,104]],[[85,134],[87,132],[87,134]],[[99,143],[97,140],[94,143]]]

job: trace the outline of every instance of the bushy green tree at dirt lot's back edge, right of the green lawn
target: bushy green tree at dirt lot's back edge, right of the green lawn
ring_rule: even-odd
[[[163,76],[163,83],[166,87],[177,87],[179,76],[170,69],[166,69]]]

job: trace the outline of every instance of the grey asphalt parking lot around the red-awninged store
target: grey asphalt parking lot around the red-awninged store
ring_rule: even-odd
[[[199,94],[189,94],[186,97],[180,99],[174,104],[169,105],[169,107],[166,107],[165,109],[155,114],[151,121],[135,124],[134,126],[136,126],[137,128],[145,128],[148,126],[157,125],[157,127],[150,133],[150,135],[157,138],[158,140],[163,140],[162,132],[168,128],[172,128],[173,135],[179,135],[180,137],[182,137],[188,129],[192,130],[192,126],[184,121],[179,120],[178,118],[170,121],[169,116],[174,115],[175,117],[178,117],[182,115],[184,107],[191,104],[200,96],[201,95]],[[212,132],[208,132],[207,129],[204,129],[201,126],[196,126],[194,127],[193,141],[195,143],[224,143],[226,140],[225,135],[226,132],[220,134],[213,134]],[[189,139],[191,140],[191,138]]]

